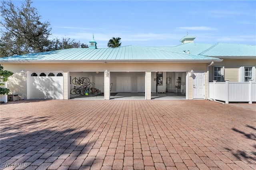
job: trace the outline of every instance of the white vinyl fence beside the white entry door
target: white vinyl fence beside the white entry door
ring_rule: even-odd
[[[256,102],[256,83],[249,82],[216,82],[209,83],[209,98],[228,102]]]

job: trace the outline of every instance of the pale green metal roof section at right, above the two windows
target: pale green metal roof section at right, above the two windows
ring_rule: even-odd
[[[209,49],[202,51],[203,56],[248,56],[256,57],[256,45],[232,44],[232,43],[216,43]]]

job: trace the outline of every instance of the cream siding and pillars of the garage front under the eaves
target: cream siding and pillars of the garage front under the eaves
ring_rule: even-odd
[[[62,71],[63,72],[63,98],[70,98],[70,72],[94,72],[94,71],[109,71],[111,72],[126,72],[138,71],[146,72],[146,99],[151,96],[151,72],[154,71],[184,71],[190,72],[193,70],[200,70],[206,72],[207,63],[4,63],[5,70],[14,72],[8,80],[8,88],[10,93],[18,93],[22,99],[27,99],[27,77],[20,75],[20,71]],[[145,75],[145,73],[144,73]],[[205,74],[206,75],[206,74]],[[30,76],[30,75],[27,75]],[[104,76],[105,77],[105,76]],[[105,77],[106,78],[106,77]],[[105,94],[104,99],[110,98],[110,80],[105,79]],[[188,99],[192,99],[192,77],[188,81]]]

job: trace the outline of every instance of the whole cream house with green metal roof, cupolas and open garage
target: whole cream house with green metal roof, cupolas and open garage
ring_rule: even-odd
[[[88,77],[107,100],[110,89],[144,92],[144,99],[166,91],[181,93],[184,99],[209,99],[214,79],[255,80],[255,45],[194,43],[195,38],[184,36],[174,47],[117,48],[97,48],[93,39],[89,48],[4,57],[0,62],[14,72],[8,88],[21,99],[70,99],[75,77]]]

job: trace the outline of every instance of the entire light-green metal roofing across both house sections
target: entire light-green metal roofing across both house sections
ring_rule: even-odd
[[[189,52],[188,52],[189,51]],[[217,58],[216,58],[217,57]],[[70,48],[0,58],[4,62],[209,62],[256,57],[256,45],[184,43],[174,47],[128,45],[117,48]]]

